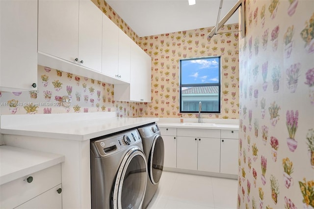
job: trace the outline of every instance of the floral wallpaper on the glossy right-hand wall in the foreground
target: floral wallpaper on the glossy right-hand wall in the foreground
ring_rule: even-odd
[[[240,209],[314,209],[314,1],[245,1]]]

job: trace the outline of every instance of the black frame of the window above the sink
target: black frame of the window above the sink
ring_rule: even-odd
[[[198,83],[198,84],[182,84],[182,61],[186,60],[198,60],[198,59],[208,59],[208,58],[218,58],[218,82],[216,83]],[[183,111],[182,101],[182,87],[201,87],[201,86],[218,86],[218,111],[204,111],[202,109],[201,113],[213,113],[221,114],[221,56],[205,56],[205,57],[193,57],[186,59],[179,59],[179,112],[180,113],[198,113],[198,111]]]

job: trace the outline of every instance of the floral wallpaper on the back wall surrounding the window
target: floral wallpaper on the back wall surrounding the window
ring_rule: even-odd
[[[238,118],[238,24],[223,26],[219,35],[207,38],[212,27],[140,37],[138,45],[152,58],[152,103],[139,104],[140,116],[197,117],[179,112],[179,60],[221,56],[221,114],[203,118]],[[143,112],[141,111],[143,108]]]

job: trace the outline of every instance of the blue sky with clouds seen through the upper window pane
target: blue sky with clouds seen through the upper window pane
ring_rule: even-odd
[[[218,67],[218,57],[181,60],[182,84],[216,83]]]

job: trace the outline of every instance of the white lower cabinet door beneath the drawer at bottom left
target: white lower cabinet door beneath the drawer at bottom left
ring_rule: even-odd
[[[62,209],[61,184],[20,205],[16,209]]]

